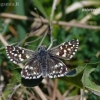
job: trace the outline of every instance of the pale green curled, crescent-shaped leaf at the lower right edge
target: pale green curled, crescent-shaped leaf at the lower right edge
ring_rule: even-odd
[[[96,85],[94,82],[92,82],[89,78],[90,73],[93,72],[95,68],[92,68],[91,66],[87,66],[84,70],[84,74],[82,77],[82,83],[83,85],[91,90],[95,94],[100,94],[100,86]]]

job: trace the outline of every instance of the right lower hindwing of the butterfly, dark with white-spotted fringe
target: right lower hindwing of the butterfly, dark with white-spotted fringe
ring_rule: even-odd
[[[58,58],[51,57],[48,60],[48,77],[57,78],[66,75],[68,72],[66,65]]]

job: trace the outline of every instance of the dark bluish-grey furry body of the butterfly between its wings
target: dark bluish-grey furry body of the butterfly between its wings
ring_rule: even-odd
[[[40,46],[38,48],[36,57],[40,64],[40,72],[42,72],[42,76],[47,77],[47,73],[48,73],[47,72],[47,70],[48,70],[47,62],[49,59],[49,54],[44,46]]]

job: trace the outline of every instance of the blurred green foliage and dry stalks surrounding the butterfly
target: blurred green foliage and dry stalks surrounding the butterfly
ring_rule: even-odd
[[[21,68],[7,58],[6,45],[20,44],[31,50],[36,50],[40,44],[50,45],[50,35],[44,34],[48,30],[47,20],[50,20],[53,3],[54,0],[0,0],[2,100],[18,100],[19,97],[20,100],[42,100],[41,92],[46,100],[100,100],[100,0],[56,2],[53,47],[72,39],[78,39],[80,43],[75,56],[69,61],[63,60],[69,69],[65,77],[24,80],[20,75]],[[41,92],[23,85],[38,86]]]

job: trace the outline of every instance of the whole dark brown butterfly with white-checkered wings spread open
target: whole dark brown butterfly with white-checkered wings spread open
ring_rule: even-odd
[[[41,76],[57,78],[68,73],[67,66],[61,59],[70,60],[78,46],[78,39],[73,39],[49,50],[45,46],[40,46],[37,51],[19,46],[7,46],[6,53],[10,61],[15,64],[26,62],[21,71],[21,76],[25,79],[38,79]]]

